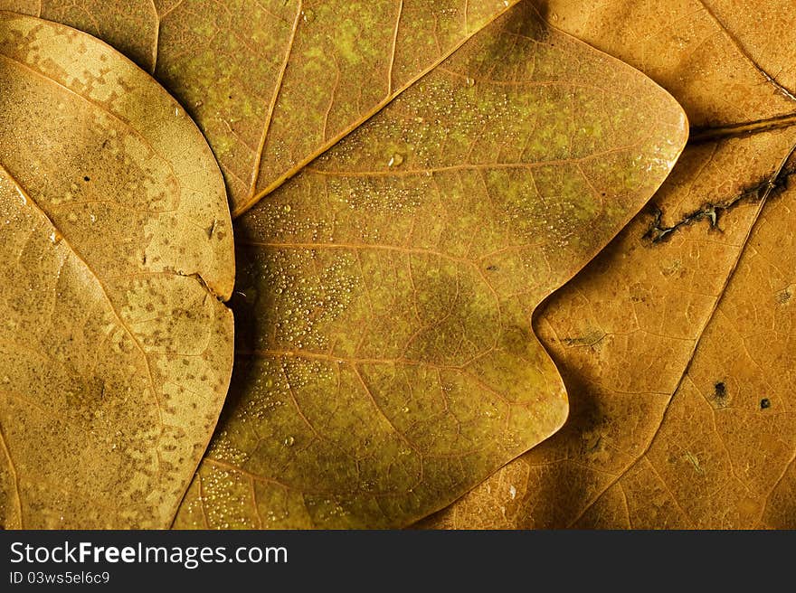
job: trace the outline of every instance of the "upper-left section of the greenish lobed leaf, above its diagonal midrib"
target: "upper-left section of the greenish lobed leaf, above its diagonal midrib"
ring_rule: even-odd
[[[238,215],[517,0],[0,0],[100,37],[194,118]]]

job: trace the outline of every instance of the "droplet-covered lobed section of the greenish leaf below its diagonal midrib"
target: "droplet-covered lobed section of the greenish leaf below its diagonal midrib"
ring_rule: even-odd
[[[552,434],[531,314],[685,133],[528,4],[479,33],[237,221],[236,377],[175,525],[403,525]]]

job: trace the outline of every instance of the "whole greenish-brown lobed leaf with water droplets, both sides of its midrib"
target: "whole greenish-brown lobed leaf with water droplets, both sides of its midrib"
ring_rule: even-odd
[[[513,3],[459,4],[10,7],[154,71],[242,212]],[[528,3],[514,19],[242,219],[238,376],[178,526],[405,524],[563,420],[529,317],[658,186],[682,122]]]

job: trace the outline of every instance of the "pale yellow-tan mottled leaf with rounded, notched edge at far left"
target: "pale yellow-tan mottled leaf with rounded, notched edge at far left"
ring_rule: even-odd
[[[85,33],[0,13],[0,521],[166,527],[232,367],[223,178]]]

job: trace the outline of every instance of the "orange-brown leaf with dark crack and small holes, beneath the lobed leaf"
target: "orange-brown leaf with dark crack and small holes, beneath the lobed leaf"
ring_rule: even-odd
[[[545,4],[669,89],[696,142],[538,315],[566,427],[423,526],[793,528],[792,2]]]

